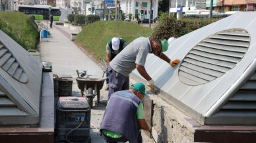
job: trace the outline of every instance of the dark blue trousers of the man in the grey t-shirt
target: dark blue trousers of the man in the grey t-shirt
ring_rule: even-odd
[[[114,92],[121,90],[129,90],[129,76],[124,76],[119,72],[114,71],[111,67],[108,68],[108,78],[109,78],[109,90],[108,90],[108,100]]]

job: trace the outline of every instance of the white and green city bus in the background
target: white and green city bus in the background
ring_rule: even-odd
[[[59,16],[61,16],[59,7],[51,7],[51,5],[18,5],[18,11],[32,14],[36,20],[49,20],[50,13],[53,14],[53,21],[59,21]]]

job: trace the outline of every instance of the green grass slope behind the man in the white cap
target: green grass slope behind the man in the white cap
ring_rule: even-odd
[[[84,26],[77,35],[76,43],[100,60],[106,59],[106,44],[110,38],[123,38],[129,44],[141,36],[150,37],[152,32],[152,29],[133,22],[98,21]]]

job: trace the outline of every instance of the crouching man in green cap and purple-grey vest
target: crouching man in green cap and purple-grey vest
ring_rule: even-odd
[[[129,90],[113,93],[100,124],[102,138],[111,143],[142,143],[139,129],[152,132],[144,117],[142,100],[145,96],[148,97],[142,82],[131,85]]]

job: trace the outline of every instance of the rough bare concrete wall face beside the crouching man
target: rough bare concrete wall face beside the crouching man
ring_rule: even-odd
[[[151,94],[154,109],[152,117],[153,138],[156,142],[193,142],[199,123],[184,115],[160,96]]]

